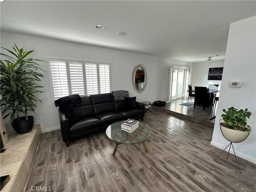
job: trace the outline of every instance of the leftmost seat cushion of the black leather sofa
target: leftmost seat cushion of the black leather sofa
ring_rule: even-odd
[[[69,132],[70,135],[80,134],[88,130],[100,128],[101,122],[94,116],[87,116],[74,123]]]

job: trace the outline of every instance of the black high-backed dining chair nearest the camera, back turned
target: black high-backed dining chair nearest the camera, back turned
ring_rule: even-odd
[[[195,87],[195,101],[194,108],[198,106],[205,107],[210,106],[210,94],[208,93],[207,87]]]

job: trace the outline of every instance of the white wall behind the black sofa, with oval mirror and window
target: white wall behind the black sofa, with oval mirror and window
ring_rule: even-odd
[[[178,64],[181,66],[191,66],[185,62],[175,62],[170,59],[158,58],[143,54],[135,54],[94,46],[85,46],[70,42],[36,38],[1,32],[1,46],[12,49],[14,42],[19,47],[32,50],[32,58],[46,61],[46,57],[67,58],[76,60],[91,60],[111,63],[112,90],[128,90],[130,96],[136,96],[137,101],[150,101],[164,99],[164,86],[166,78],[166,65]],[[4,52],[4,50],[1,50]],[[138,63],[144,64],[148,72],[148,83],[143,93],[137,94],[132,88],[132,70]],[[42,103],[37,104],[35,110],[35,124],[40,123],[42,132],[60,128],[58,108],[52,103],[50,90],[50,74],[48,73],[47,62],[42,63],[42,68],[46,71],[42,82],[43,94],[38,94]],[[7,130],[13,131],[9,118],[4,119]]]

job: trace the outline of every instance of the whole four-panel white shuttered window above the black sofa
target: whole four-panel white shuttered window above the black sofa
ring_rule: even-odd
[[[53,99],[110,92],[110,63],[48,58]]]

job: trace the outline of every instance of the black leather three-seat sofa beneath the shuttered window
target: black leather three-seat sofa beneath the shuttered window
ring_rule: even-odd
[[[71,140],[104,130],[114,122],[128,118],[143,121],[145,106],[136,102],[136,97],[114,101],[107,93],[80,98],[78,103],[66,102],[59,108],[62,139],[67,147]]]

